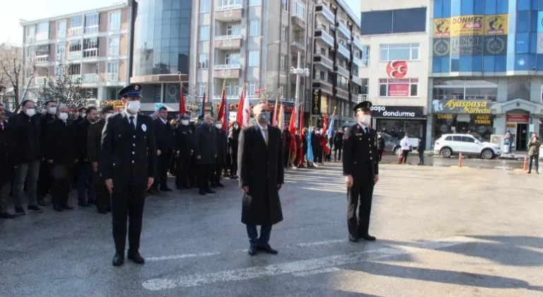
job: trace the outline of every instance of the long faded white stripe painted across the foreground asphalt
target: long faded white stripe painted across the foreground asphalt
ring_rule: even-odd
[[[476,238],[467,238],[458,236],[454,238],[445,238],[424,243],[414,243],[411,245],[402,245],[394,247],[379,248],[376,250],[365,250],[344,255],[333,255],[310,260],[298,260],[293,262],[284,262],[271,264],[267,266],[257,266],[242,269],[224,270],[222,272],[212,272],[208,274],[192,274],[180,276],[175,279],[149,279],[144,281],[142,286],[149,291],[161,291],[174,289],[177,287],[189,288],[226,281],[243,281],[247,279],[256,279],[263,276],[276,276],[280,274],[293,274],[309,272],[317,269],[329,267],[338,267],[344,264],[352,264],[363,261],[377,260],[384,257],[395,255],[404,255],[413,250],[436,250],[447,248],[454,245],[461,245],[477,241]]]

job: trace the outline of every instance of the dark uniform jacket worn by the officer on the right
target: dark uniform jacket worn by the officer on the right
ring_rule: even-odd
[[[377,151],[377,132],[369,128],[369,133],[355,124],[349,131],[349,138],[343,143],[343,174],[353,178],[364,177],[370,173],[379,174],[379,154]]]

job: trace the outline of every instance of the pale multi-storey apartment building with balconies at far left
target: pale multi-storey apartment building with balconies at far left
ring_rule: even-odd
[[[36,21],[21,21],[26,69],[36,71],[29,87],[40,86],[59,71],[81,80],[89,98],[115,100],[129,80],[129,6],[115,4]],[[28,81],[32,71],[26,71]],[[91,101],[93,103],[93,101]]]

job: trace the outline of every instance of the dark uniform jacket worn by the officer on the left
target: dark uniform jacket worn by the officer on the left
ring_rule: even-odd
[[[123,185],[147,184],[156,177],[156,145],[153,119],[141,113],[136,130],[129,124],[126,112],[109,117],[102,133],[100,174]]]

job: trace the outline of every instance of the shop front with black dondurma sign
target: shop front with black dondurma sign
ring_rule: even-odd
[[[371,117],[377,131],[386,131],[398,139],[406,133],[409,138],[426,135],[426,115],[422,106],[374,105],[371,107]]]

